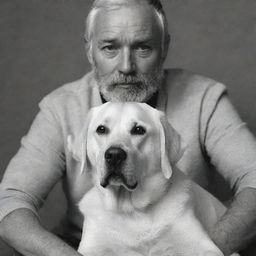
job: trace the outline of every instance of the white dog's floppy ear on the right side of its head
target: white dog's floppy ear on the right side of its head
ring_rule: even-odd
[[[185,146],[179,133],[170,125],[164,114],[160,114],[161,169],[164,176],[172,176],[172,168],[182,157]]]

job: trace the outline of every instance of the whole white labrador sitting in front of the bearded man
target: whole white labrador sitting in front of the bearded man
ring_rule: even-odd
[[[94,182],[79,204],[82,255],[223,255],[208,232],[226,209],[175,167],[183,147],[163,113],[106,103],[68,140]]]

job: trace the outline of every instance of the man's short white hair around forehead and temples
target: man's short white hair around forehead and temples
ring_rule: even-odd
[[[170,35],[168,32],[167,19],[160,0],[95,0],[86,19],[85,42],[87,43],[89,51],[92,47],[91,40],[95,18],[99,10],[130,6],[132,3],[141,4],[143,2],[151,5],[158,17],[162,29],[162,52],[164,53],[166,51],[165,47],[167,47],[169,43]]]

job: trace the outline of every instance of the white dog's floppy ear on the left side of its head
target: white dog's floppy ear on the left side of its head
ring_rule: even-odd
[[[87,156],[87,132],[91,120],[91,111],[88,114],[84,127],[78,134],[74,136],[69,135],[67,138],[68,150],[71,152],[72,157],[80,162],[80,173],[88,170],[89,162]]]

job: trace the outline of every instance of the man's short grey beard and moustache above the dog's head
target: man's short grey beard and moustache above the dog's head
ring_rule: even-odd
[[[125,75],[116,71],[105,76],[100,76],[95,66],[93,70],[100,93],[106,101],[146,102],[164,80],[162,68],[150,74]]]

